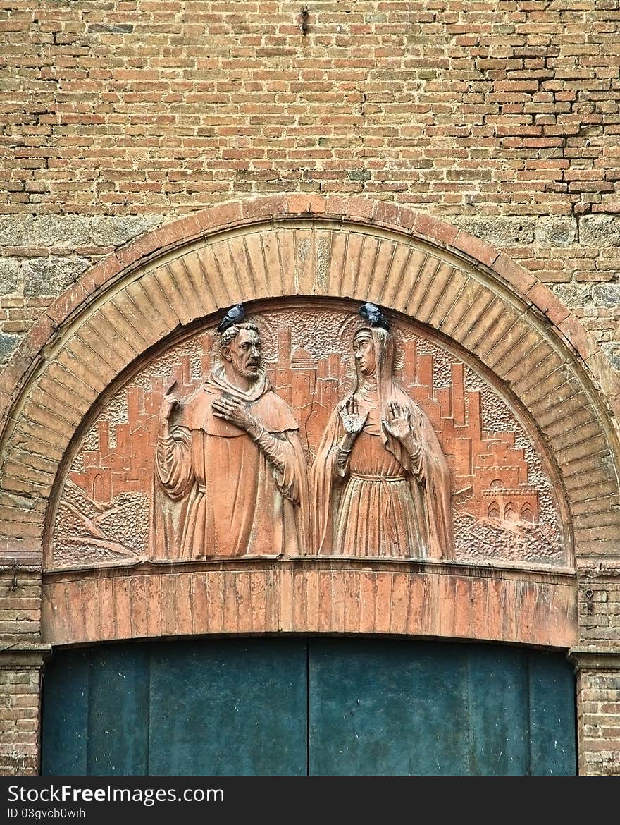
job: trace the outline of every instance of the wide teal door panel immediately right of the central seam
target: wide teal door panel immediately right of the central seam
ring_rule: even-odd
[[[311,643],[309,661],[312,774],[463,772],[467,662],[458,648],[326,640]]]

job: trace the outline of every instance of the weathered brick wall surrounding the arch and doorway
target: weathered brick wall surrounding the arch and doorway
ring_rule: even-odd
[[[492,243],[620,372],[620,2],[302,5],[0,2],[0,364],[134,238],[298,192]],[[2,561],[0,771],[36,771],[40,571]],[[579,577],[580,770],[618,773],[620,567]]]

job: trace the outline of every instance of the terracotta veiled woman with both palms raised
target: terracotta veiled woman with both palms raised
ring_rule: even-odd
[[[353,349],[355,386],[312,465],[315,552],[452,558],[448,463],[429,419],[394,380],[392,332],[365,326]]]

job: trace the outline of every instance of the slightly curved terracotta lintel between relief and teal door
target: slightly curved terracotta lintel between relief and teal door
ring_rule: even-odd
[[[351,561],[262,561],[50,573],[51,644],[198,634],[384,634],[570,648],[571,574]],[[502,577],[502,574],[506,577]]]

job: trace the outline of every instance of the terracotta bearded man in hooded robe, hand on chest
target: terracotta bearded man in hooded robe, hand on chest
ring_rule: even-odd
[[[180,559],[298,554],[308,517],[298,424],[261,370],[256,324],[232,323],[218,346],[221,364],[204,385],[184,404],[171,394],[162,402],[156,484],[182,507],[176,520],[155,508],[154,551]]]

